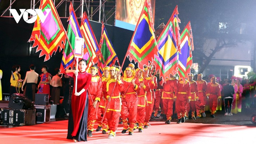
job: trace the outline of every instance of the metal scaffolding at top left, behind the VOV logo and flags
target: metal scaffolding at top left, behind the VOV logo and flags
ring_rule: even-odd
[[[16,0],[10,0],[9,6],[5,9],[1,16],[12,17],[10,11],[8,15],[8,10],[12,8],[12,5],[15,4],[15,2]],[[69,3],[72,2],[78,18],[81,18],[83,12],[86,12],[89,20],[98,22],[103,21],[103,23],[109,25],[113,25],[113,21],[115,19],[115,0],[59,0],[58,2],[53,0],[53,2],[61,18],[68,18],[68,7]],[[40,0],[30,0],[31,9],[38,8],[39,5]],[[15,9],[15,7],[13,8]],[[99,14],[99,16],[96,16],[96,14]]]

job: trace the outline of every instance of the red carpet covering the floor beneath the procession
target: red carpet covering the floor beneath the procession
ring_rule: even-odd
[[[68,144],[73,140],[66,139],[68,121],[57,121],[29,126],[19,126],[0,130],[1,144]],[[116,137],[107,138],[107,134],[93,132],[93,137],[88,137],[90,144],[221,144],[228,143],[256,143],[256,127],[182,123],[164,124],[164,122],[150,122],[151,126],[142,133],[128,132],[122,134],[122,124],[119,124]],[[95,125],[95,128],[97,125]]]

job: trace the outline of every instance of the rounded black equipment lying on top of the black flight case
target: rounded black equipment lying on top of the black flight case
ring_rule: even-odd
[[[19,93],[12,94],[8,107],[11,109],[35,109],[32,101]]]

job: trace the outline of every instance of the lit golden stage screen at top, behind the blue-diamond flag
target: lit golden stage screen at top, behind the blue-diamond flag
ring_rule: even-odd
[[[145,0],[116,0],[115,26],[134,30],[140,17]],[[151,0],[153,22],[155,17],[155,0]]]

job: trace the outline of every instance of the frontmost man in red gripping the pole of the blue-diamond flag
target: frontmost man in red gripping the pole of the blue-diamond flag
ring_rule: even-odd
[[[110,67],[110,76],[102,83],[102,91],[106,99],[106,117],[110,130],[108,138],[113,138],[116,135],[121,112],[120,92],[125,90],[119,71],[117,66]]]

